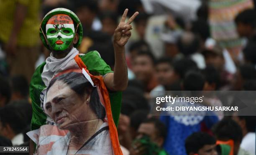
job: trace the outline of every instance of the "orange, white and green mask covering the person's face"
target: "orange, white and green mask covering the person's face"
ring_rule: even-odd
[[[74,36],[74,23],[68,15],[54,15],[46,23],[46,38],[54,51],[64,51],[69,48]]]

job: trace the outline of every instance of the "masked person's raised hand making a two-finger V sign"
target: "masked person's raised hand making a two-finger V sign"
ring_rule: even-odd
[[[130,25],[133,20],[138,15],[138,12],[134,13],[131,18],[125,23],[125,19],[128,13],[128,9],[125,9],[123,16],[121,18],[120,23],[118,24],[118,27],[115,29],[114,33],[114,45],[115,46],[125,46],[129,38],[131,37],[131,29],[132,26]]]

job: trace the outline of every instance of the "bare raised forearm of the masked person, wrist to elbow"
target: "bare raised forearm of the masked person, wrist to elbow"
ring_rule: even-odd
[[[125,90],[128,84],[128,71],[125,60],[124,46],[114,46],[115,68],[113,77],[113,88],[119,91]]]

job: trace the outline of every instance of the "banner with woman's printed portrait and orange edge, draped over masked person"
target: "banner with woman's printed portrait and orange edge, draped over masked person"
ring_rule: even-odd
[[[78,55],[73,60],[74,68],[56,74],[44,90],[48,124],[27,133],[35,154],[122,155],[102,76],[92,76]]]

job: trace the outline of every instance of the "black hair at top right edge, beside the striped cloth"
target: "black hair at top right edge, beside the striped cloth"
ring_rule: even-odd
[[[246,9],[239,13],[235,18],[236,24],[243,23],[256,27],[256,12],[253,9]]]

